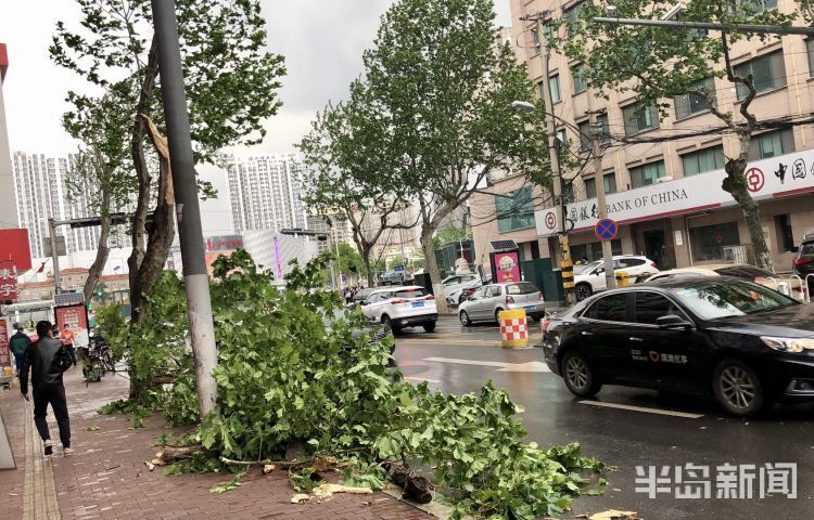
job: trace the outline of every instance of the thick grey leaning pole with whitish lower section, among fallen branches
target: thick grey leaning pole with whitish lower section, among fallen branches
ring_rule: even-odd
[[[217,350],[209,299],[209,275],[204,260],[201,210],[198,203],[175,0],[152,0],[152,8],[158,47],[162,101],[167,121],[169,165],[175,188],[176,220],[187,287],[187,313],[195,359],[198,410],[203,419],[209,412],[215,411],[217,400],[217,384],[213,375],[217,365]]]

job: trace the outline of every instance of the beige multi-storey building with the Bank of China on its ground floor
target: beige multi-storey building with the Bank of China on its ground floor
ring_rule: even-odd
[[[755,5],[790,13],[799,3]],[[737,155],[739,143],[732,132],[701,134],[699,130],[724,127],[709,105],[691,95],[664,100],[669,117],[662,118],[654,107],[639,106],[631,92],[602,99],[583,81],[581,65],[557,52],[550,54],[548,77],[543,77],[535,22],[521,22],[521,16],[551,10],[555,17],[574,20],[580,9],[581,2],[574,0],[511,0],[518,55],[538,90],[550,87],[558,139],[587,157],[588,109],[605,109],[598,119],[601,178],[592,167],[562,172],[572,200],[565,223],[571,229],[572,258],[600,258],[593,226],[596,186],[601,182],[609,194],[608,216],[621,224],[612,240],[614,252],[646,255],[662,269],[753,261],[742,212],[721,187],[725,160]],[[560,30],[564,36],[569,29]],[[802,36],[741,40],[732,46],[730,56],[739,74],[754,78],[759,93],[750,108],[758,120],[778,121],[754,132],[746,181],[759,203],[775,269],[788,272],[792,249],[814,231],[814,127],[779,121],[801,121],[814,113],[814,40]],[[741,89],[721,78],[710,78],[708,86],[718,110],[739,117]],[[556,257],[559,216],[550,194],[530,185],[522,174],[496,181],[491,191],[471,200],[479,261],[487,258],[489,240],[505,238],[521,244],[526,259]]]

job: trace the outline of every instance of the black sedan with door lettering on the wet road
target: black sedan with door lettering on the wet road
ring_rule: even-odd
[[[603,384],[712,394],[739,416],[814,399],[814,304],[752,282],[609,290],[544,327],[546,363],[578,396]]]

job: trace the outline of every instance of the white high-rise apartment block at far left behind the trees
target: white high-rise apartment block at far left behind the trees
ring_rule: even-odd
[[[16,218],[28,230],[31,257],[46,257],[49,240],[48,219],[67,220],[92,217],[87,197],[71,198],[68,176],[76,168],[78,156],[48,157],[44,154],[15,152],[13,156]],[[88,187],[92,190],[91,186]],[[60,226],[56,235],[65,236],[66,252],[94,250],[99,246],[99,227],[69,229]]]

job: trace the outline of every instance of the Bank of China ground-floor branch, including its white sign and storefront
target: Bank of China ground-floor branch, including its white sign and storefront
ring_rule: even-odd
[[[609,194],[608,217],[621,224],[614,253],[645,255],[661,269],[750,262],[749,233],[732,195],[721,187],[724,177],[723,170],[715,170]],[[814,233],[814,150],[751,161],[746,181],[759,202],[775,268],[789,271],[790,249]],[[565,212],[573,258],[596,259],[596,198],[570,204]],[[557,219],[554,208],[535,213],[537,234],[548,239],[549,256],[556,251]]]

